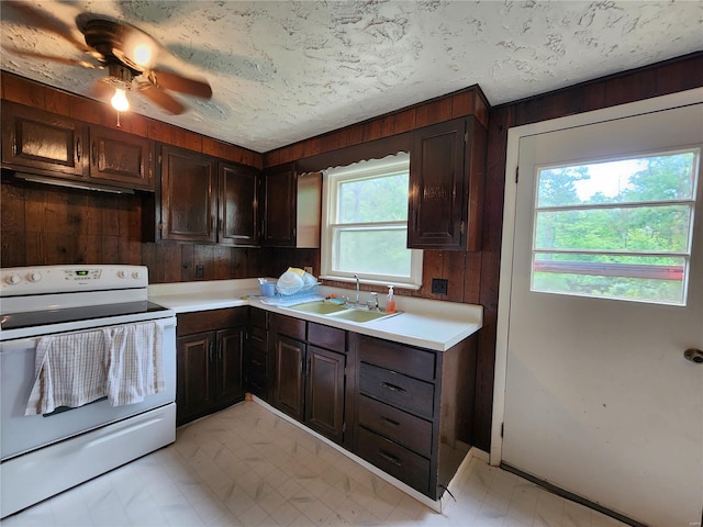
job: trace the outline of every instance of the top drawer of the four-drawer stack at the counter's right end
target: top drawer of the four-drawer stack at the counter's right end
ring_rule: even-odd
[[[380,338],[358,336],[359,360],[422,379],[435,380],[436,356],[432,351],[412,348]]]

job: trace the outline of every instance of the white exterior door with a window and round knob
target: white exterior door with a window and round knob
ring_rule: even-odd
[[[502,461],[651,526],[703,511],[702,143],[703,104],[520,139]]]

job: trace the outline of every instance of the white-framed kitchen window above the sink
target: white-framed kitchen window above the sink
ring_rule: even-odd
[[[408,245],[410,156],[324,171],[322,278],[420,289],[422,251]]]

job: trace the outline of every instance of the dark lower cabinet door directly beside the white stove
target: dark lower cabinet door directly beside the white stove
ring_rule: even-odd
[[[176,414],[182,425],[204,415],[214,406],[212,333],[200,333],[177,339]]]

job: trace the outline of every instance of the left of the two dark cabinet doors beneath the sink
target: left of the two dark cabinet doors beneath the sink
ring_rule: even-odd
[[[305,345],[283,335],[276,335],[274,361],[276,384],[274,406],[291,417],[303,421]]]

